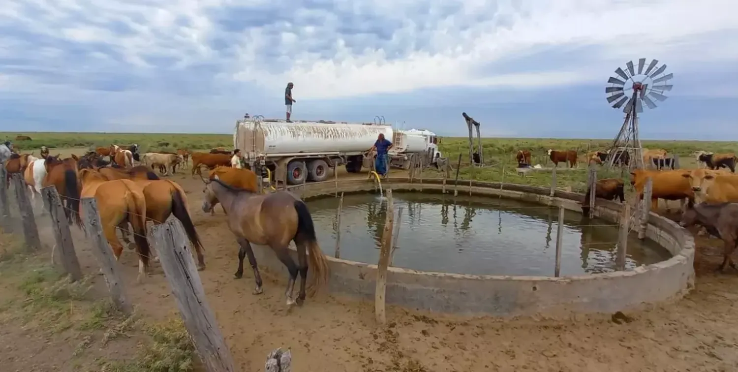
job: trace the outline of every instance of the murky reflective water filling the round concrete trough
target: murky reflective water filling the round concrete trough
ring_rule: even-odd
[[[334,255],[337,198],[308,202],[323,251]],[[510,199],[395,193],[404,207],[393,266],[477,275],[554,275],[558,209]],[[349,194],[341,213],[341,258],[379,260],[386,202],[374,194]],[[564,215],[562,275],[615,269],[618,227],[612,222]],[[626,266],[655,263],[669,252],[653,241],[628,239]]]

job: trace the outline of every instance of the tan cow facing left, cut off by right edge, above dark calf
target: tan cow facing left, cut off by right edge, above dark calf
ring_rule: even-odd
[[[738,202],[738,175],[734,173],[695,169],[682,173],[682,176],[689,179],[697,203]]]

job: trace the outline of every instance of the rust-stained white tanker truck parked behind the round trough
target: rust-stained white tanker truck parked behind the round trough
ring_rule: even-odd
[[[241,149],[248,162],[266,165],[277,181],[299,185],[303,182],[325,181],[334,165],[345,165],[349,173],[359,173],[362,167],[369,165],[370,158],[364,159],[364,154],[380,133],[387,139],[393,139],[393,142],[396,139],[400,141],[390,151],[390,165],[399,168],[410,166],[407,161],[410,159],[409,151],[427,151],[424,144],[429,142],[435,149],[434,142],[437,142],[435,134],[432,134],[432,138],[420,133],[405,134],[383,124],[328,121],[288,123],[285,120],[246,117],[236,121],[233,146]]]

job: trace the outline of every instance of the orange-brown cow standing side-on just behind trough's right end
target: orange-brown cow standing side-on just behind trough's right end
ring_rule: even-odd
[[[636,169],[630,172],[630,185],[635,187],[638,197],[643,199],[646,179],[651,178],[651,210],[658,209],[658,199],[681,200],[682,209],[689,200],[694,202],[694,192],[689,179],[684,178],[684,171],[650,171]]]

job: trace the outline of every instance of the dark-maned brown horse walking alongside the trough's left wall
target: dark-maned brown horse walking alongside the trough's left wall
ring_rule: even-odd
[[[239,245],[238,270],[235,272],[235,278],[244,275],[244,256],[247,255],[256,281],[254,294],[260,294],[263,290],[261,275],[251,248],[252,243],[269,245],[274,249],[277,258],[287,266],[289,282],[285,294],[288,306],[294,303],[292,292],[298,272],[300,294],[297,296],[297,304],[302,305],[305,300],[308,250],[310,266],[315,271],[310,284],[311,294],[328,282],[328,261],[315,238],[313,219],[305,202],[287,191],[263,195],[231,187],[219,179],[208,179],[206,182],[202,210],[209,212],[215,202],[220,202],[225,207],[229,217],[228,228],[235,235]],[[289,253],[288,244],[292,240],[297,246],[299,266],[294,264]]]

